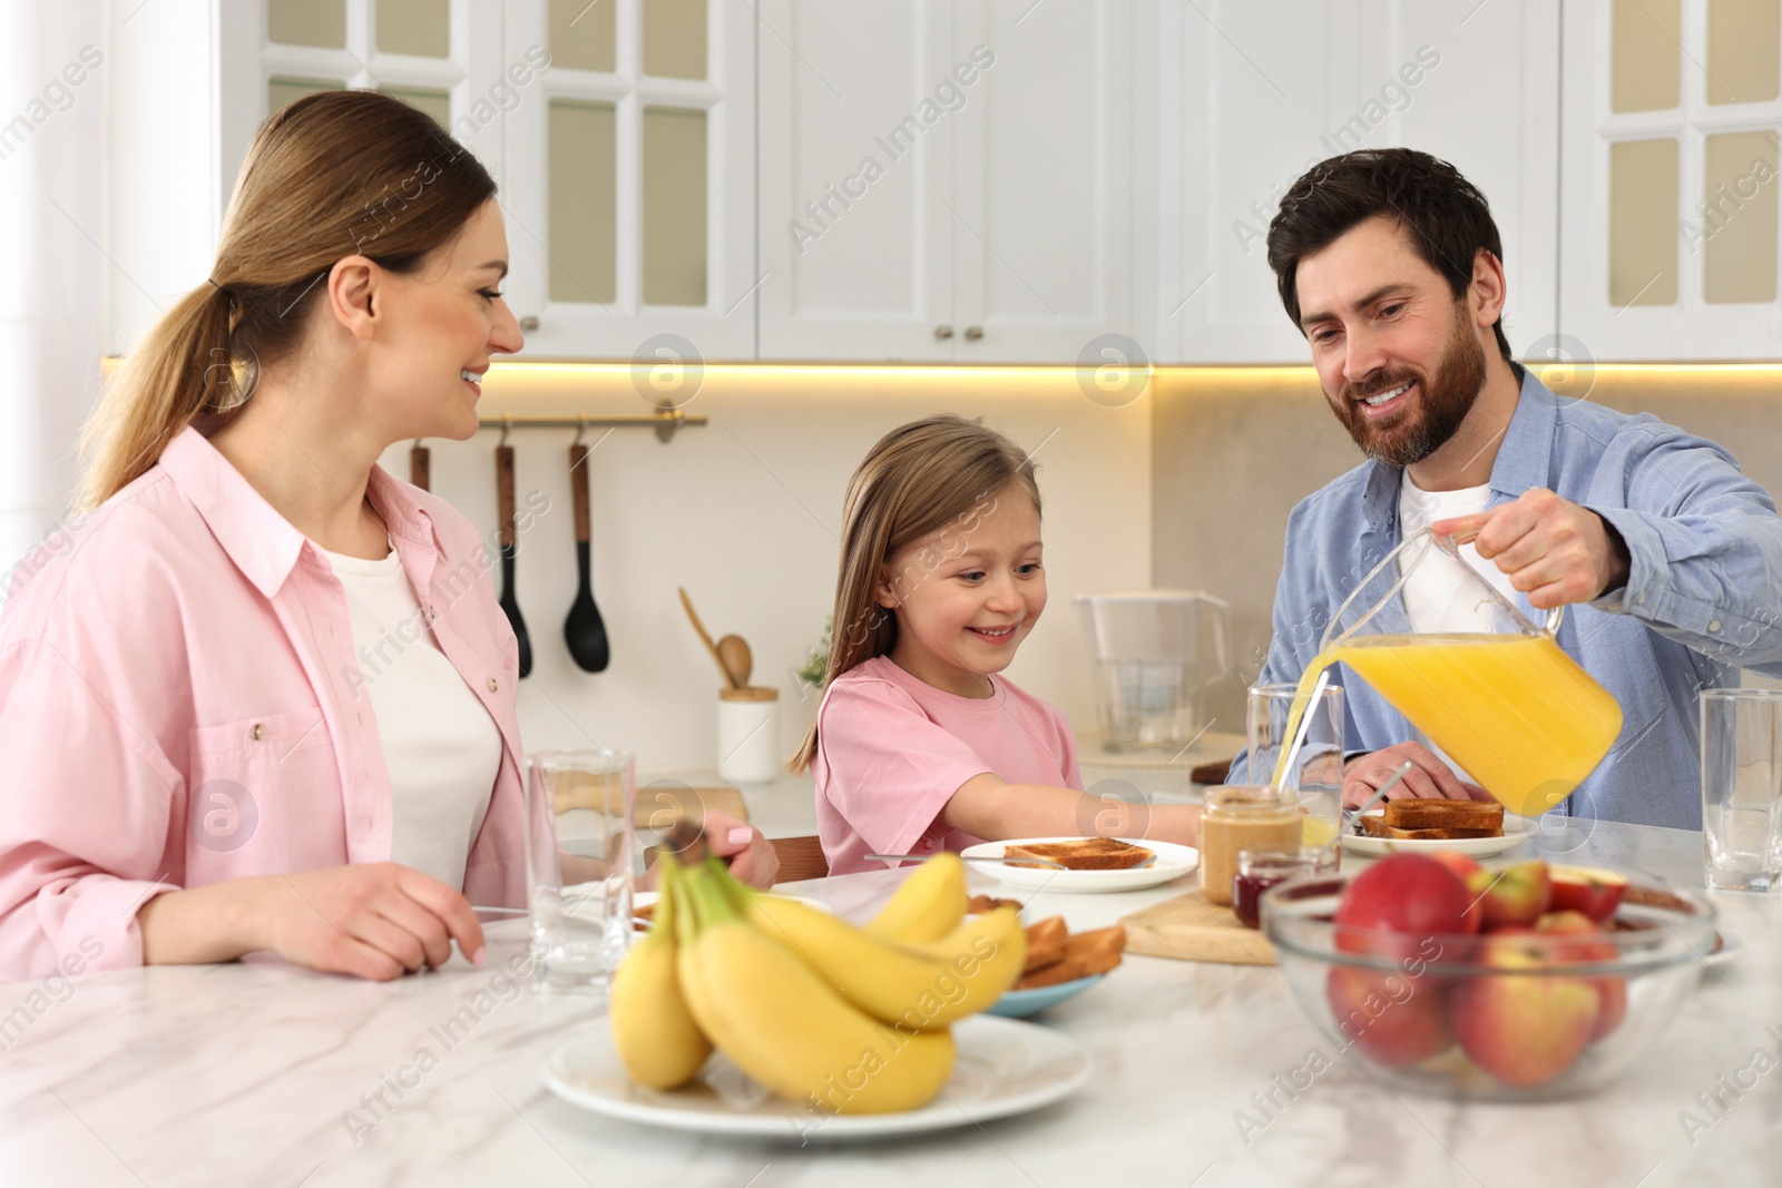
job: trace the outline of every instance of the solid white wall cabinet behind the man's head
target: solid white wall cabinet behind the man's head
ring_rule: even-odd
[[[1554,5],[1217,0],[1155,16],[1155,358],[1308,360],[1267,264],[1269,221],[1308,166],[1358,148],[1418,148],[1472,180],[1504,240],[1511,346],[1552,333]]]

